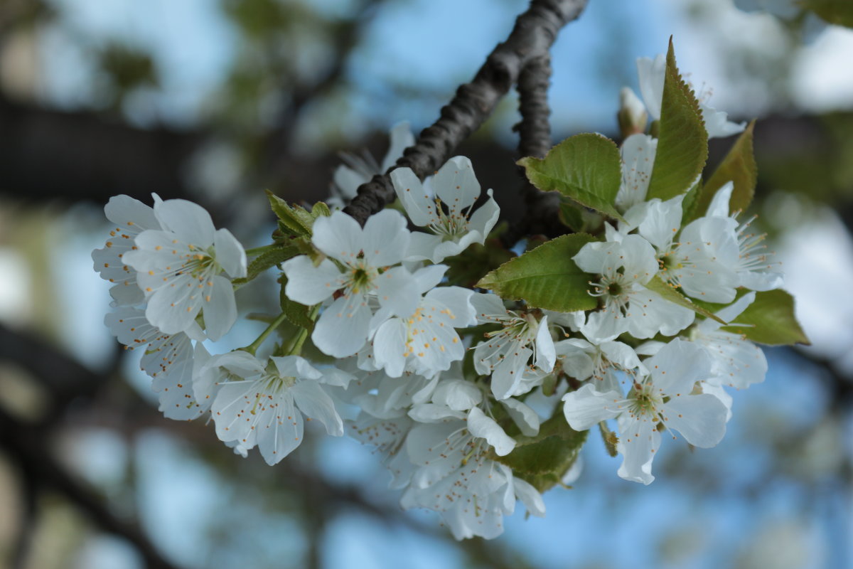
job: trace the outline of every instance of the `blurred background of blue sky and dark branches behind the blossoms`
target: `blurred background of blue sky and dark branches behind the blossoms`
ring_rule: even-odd
[[[264,189],[323,199],[341,151],[381,158],[392,125],[430,125],[526,4],[0,2],[0,566],[853,566],[853,31],[797,10],[591,0],[554,45],[554,142],[618,136],[619,88],[670,34],[714,107],[758,119],[753,209],[813,342],[768,349],[722,444],[666,445],[651,486],[619,479],[590,437],[546,519],[456,543],[432,513],[402,512],[350,439],[317,433],[267,467],[164,419],[139,354],[108,334],[90,252],[109,196],[194,200],[263,244]],[[504,212],[516,101],[460,149]],[[714,142],[711,163],[732,141]],[[244,316],[274,310],[273,284],[241,289]],[[241,319],[217,348],[262,328]]]

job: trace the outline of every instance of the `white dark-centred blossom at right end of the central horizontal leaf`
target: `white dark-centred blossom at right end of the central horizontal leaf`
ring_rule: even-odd
[[[591,294],[601,299],[603,307],[590,312],[582,328],[589,340],[613,340],[624,332],[635,338],[651,338],[659,332],[671,336],[693,322],[693,311],[645,287],[658,272],[658,261],[653,247],[640,235],[587,243],[573,259],[581,270],[601,275]]]

